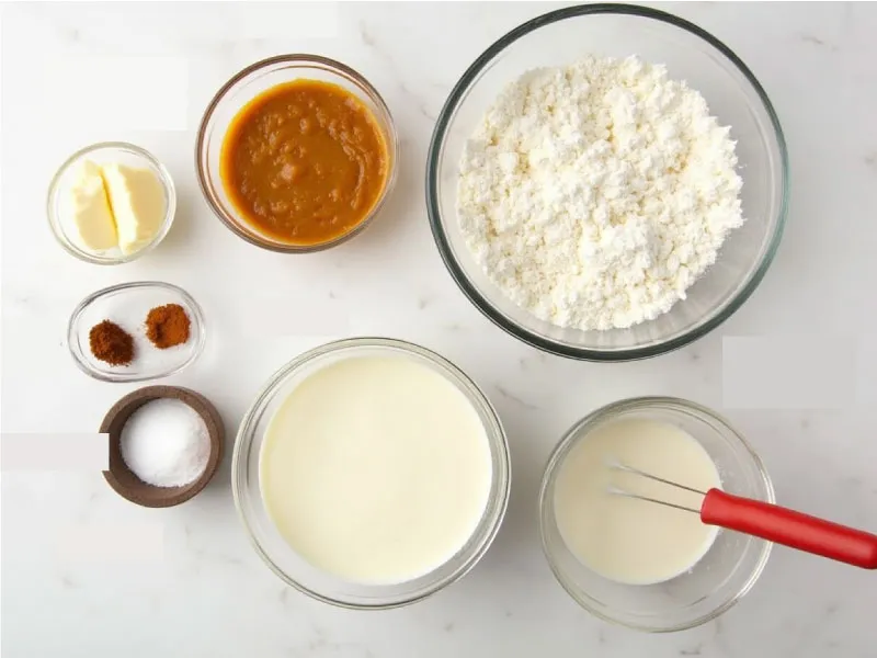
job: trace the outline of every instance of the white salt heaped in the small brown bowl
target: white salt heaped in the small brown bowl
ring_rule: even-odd
[[[119,447],[125,464],[146,484],[182,487],[207,468],[210,436],[192,407],[161,398],[130,415],[122,428]]]

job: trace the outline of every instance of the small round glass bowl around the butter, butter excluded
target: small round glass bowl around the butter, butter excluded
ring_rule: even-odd
[[[150,169],[158,177],[162,190],[164,190],[164,218],[161,222],[156,236],[148,243],[144,245],[134,253],[123,254],[118,248],[101,252],[91,252],[83,249],[80,245],[76,243],[69,235],[70,218],[65,216],[61,205],[61,194],[71,183],[71,177],[75,169],[83,160],[92,160],[98,164],[118,163],[127,164],[129,167],[138,167],[140,169]],[[173,224],[173,217],[176,212],[176,191],[173,185],[171,174],[148,150],[140,148],[134,144],[124,141],[101,141],[92,144],[83,149],[78,150],[72,156],[67,158],[64,164],[60,166],[58,172],[52,179],[48,189],[47,213],[48,222],[52,227],[52,232],[58,240],[58,243],[67,250],[68,253],[75,256],[79,260],[98,265],[117,265],[127,263],[135,259],[140,258],[145,253],[155,249]]]

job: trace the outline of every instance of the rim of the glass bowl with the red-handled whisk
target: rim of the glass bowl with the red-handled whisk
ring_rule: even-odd
[[[548,500],[548,489],[550,485],[557,478],[558,469],[562,462],[562,457],[571,450],[572,445],[576,443],[577,439],[580,438],[582,430],[589,426],[593,426],[596,422],[612,420],[613,418],[618,417],[622,413],[628,411],[637,411],[643,409],[667,409],[667,408],[675,408],[676,410],[682,410],[683,412],[688,412],[693,415],[701,415],[705,416],[718,424],[720,424],[724,429],[727,430],[727,433],[724,433],[724,436],[730,438],[732,443],[736,443],[739,447],[742,447],[748,457],[751,460],[752,464],[755,466],[759,475],[761,476],[761,484],[764,485],[766,496],[764,498],[764,502],[768,502],[772,504],[776,503],[776,492],[774,491],[773,481],[771,480],[771,476],[767,473],[766,467],[764,466],[764,462],[752,447],[752,445],[747,441],[747,439],[731,424],[728,419],[726,419],[720,413],[714,411],[713,409],[705,407],[704,405],[699,405],[692,400],[687,400],[684,398],[671,397],[671,396],[642,396],[642,397],[633,397],[623,400],[618,400],[615,402],[610,402],[608,405],[604,405],[590,413],[588,413],[582,419],[576,421],[569,430],[567,430],[560,440],[557,442],[557,445],[551,450],[551,454],[546,462],[545,469],[543,472],[542,480],[539,483],[539,496],[538,496],[538,517],[539,517],[539,542],[542,544],[542,551],[545,555],[545,559],[548,563],[548,566],[551,569],[551,574],[554,574],[555,580],[563,588],[567,594],[581,608],[596,616],[597,619],[603,620],[604,622],[610,622],[612,624],[617,624],[620,626],[626,626],[628,628],[633,628],[635,631],[642,631],[646,633],[674,633],[677,631],[686,631],[688,628],[694,628],[706,622],[709,622],[719,615],[724,614],[734,604],[737,604],[740,599],[742,599],[755,585],[755,582],[761,577],[762,572],[764,571],[765,566],[767,565],[767,559],[771,557],[771,549],[773,548],[773,544],[771,542],[764,542],[762,545],[761,554],[759,555],[759,560],[755,567],[752,569],[752,572],[749,574],[743,585],[734,592],[732,597],[730,597],[727,601],[724,601],[720,605],[716,606],[715,609],[710,610],[708,613],[702,614],[701,616],[680,624],[668,625],[668,626],[654,626],[654,625],[646,625],[646,624],[637,624],[628,621],[622,621],[617,617],[612,616],[601,610],[597,610],[595,606],[590,605],[582,597],[577,594],[573,591],[573,588],[570,585],[570,579],[561,572],[561,570],[557,567],[555,559],[553,558],[553,549],[549,547],[549,541],[546,534],[546,511],[553,503],[549,506]]]

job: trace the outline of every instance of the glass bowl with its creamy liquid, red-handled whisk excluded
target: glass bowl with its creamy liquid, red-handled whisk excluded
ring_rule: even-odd
[[[725,419],[675,398],[599,409],[555,449],[539,492],[543,548],[567,592],[596,616],[639,631],[682,631],[731,608],[761,575],[762,540],[718,530],[702,495],[625,472],[636,468],[702,491],[774,502],[759,456]]]

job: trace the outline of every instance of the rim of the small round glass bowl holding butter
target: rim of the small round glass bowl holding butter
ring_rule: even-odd
[[[59,185],[64,174],[67,173],[70,167],[72,167],[81,158],[102,149],[129,151],[149,162],[149,164],[153,167],[156,171],[158,171],[161,188],[164,190],[164,194],[168,197],[168,206],[164,208],[164,217],[161,219],[161,227],[159,228],[158,232],[152,237],[149,243],[127,256],[123,254],[107,258],[93,256],[82,249],[79,249],[79,247],[73,245],[70,238],[67,237],[66,231],[61,228],[60,217],[58,217],[58,214],[55,212],[55,200],[60,192]],[[121,265],[122,263],[129,263],[134,260],[137,260],[141,256],[145,256],[149,251],[152,251],[167,237],[175,215],[176,186],[173,183],[173,178],[171,178],[168,168],[164,167],[161,160],[152,155],[151,151],[141,146],[137,146],[136,144],[132,144],[130,141],[95,141],[94,144],[89,144],[88,146],[83,146],[82,148],[78,149],[70,155],[55,171],[55,174],[52,177],[52,181],[48,184],[48,193],[46,194],[46,216],[48,218],[49,227],[52,228],[52,235],[55,236],[55,240],[57,240],[57,242],[70,256],[73,256],[83,262],[95,265]]]

